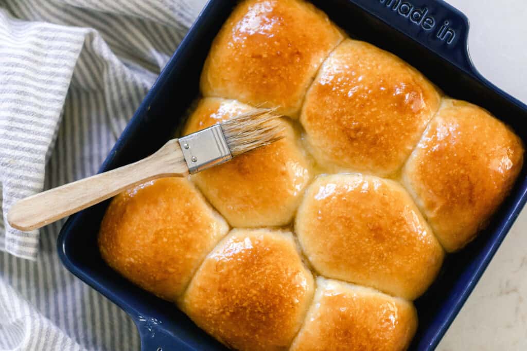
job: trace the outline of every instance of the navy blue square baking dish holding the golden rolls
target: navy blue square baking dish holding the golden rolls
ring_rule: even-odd
[[[314,0],[352,37],[402,57],[443,91],[486,109],[525,142],[527,106],[486,81],[467,49],[469,22],[441,0]],[[163,69],[100,171],[156,151],[184,122],[212,39],[236,0],[210,0]],[[509,40],[513,40],[509,38]],[[435,283],[416,301],[419,328],[412,350],[433,350],[469,297],[527,199],[526,167],[490,225],[460,253],[448,255]],[[177,307],[143,291],[110,269],[96,245],[108,202],[72,216],[58,237],[60,257],[73,274],[108,297],[135,321],[143,350],[225,350]]]

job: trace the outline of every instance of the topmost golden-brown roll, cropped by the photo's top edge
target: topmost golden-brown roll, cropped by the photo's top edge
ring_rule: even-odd
[[[204,96],[276,107],[296,117],[340,30],[303,0],[239,4],[214,40],[201,75]]]

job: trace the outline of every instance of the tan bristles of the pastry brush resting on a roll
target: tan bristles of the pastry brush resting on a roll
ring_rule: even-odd
[[[274,109],[258,108],[221,124],[233,157],[279,141],[284,136],[281,115]]]

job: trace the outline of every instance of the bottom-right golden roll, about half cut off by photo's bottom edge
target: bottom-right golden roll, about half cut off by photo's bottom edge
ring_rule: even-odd
[[[417,328],[412,303],[317,278],[317,291],[290,351],[403,351]]]

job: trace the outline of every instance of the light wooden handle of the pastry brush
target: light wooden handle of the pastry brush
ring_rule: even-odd
[[[26,197],[9,209],[7,221],[13,228],[26,232],[79,212],[148,180],[186,175],[187,164],[177,139],[173,139],[141,161]]]

